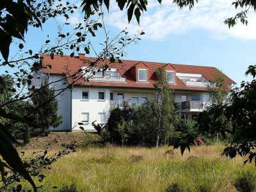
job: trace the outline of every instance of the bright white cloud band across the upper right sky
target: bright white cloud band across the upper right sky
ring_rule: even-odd
[[[135,17],[128,24],[127,11],[120,12],[116,2],[112,1],[105,19],[109,26],[127,28],[132,33],[144,29],[146,35],[143,38],[153,40],[164,40],[170,34],[183,34],[193,29],[204,29],[212,38],[256,39],[256,15],[253,11],[248,15],[248,26],[238,23],[234,28],[228,29],[223,23],[239,12],[232,6],[232,1],[234,0],[202,0],[191,11],[188,8],[180,10],[169,0],[163,1],[161,5],[156,0],[148,1],[148,12],[141,15],[141,27]]]

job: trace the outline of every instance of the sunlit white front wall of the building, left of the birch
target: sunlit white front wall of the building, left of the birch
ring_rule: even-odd
[[[82,99],[83,91],[88,91],[88,100]],[[99,100],[99,91],[105,92],[105,100]],[[154,95],[152,91],[143,92],[132,89],[92,88],[86,86],[74,87],[72,90],[72,131],[81,131],[79,127],[83,127],[84,131],[95,131],[92,122],[95,121],[95,124],[99,122],[98,113],[106,113],[107,121],[111,109],[110,93],[114,93],[114,100],[117,97],[117,93],[123,93],[124,100],[130,101],[132,97],[138,95],[138,103],[136,105],[141,104],[141,97],[150,98]],[[86,124],[79,125],[82,122],[82,113],[89,113],[89,121]]]

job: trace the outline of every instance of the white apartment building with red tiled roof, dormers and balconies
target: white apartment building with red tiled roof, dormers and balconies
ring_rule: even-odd
[[[82,131],[81,127],[84,131],[95,131],[92,122],[106,124],[111,109],[122,108],[124,103],[140,105],[154,97],[159,67],[166,70],[182,116],[195,118],[211,103],[207,88],[210,77],[218,71],[214,67],[123,60],[122,64],[109,63],[110,69],[102,72],[106,60],[90,68],[93,58],[84,54],[74,58],[55,56],[54,60],[48,55],[42,57],[42,69],[35,74],[30,88],[40,88],[45,81],[56,90],[58,115],[63,117],[56,131]],[[226,81],[227,89],[235,84],[228,77]]]

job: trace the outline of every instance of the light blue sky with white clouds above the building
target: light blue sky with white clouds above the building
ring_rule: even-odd
[[[243,80],[252,80],[251,77],[246,78],[244,72],[249,65],[256,65],[256,14],[254,11],[248,14],[248,26],[239,23],[228,29],[223,21],[239,12],[232,6],[232,1],[199,0],[192,10],[180,10],[170,0],[163,0],[162,4],[149,0],[139,26],[135,17],[129,24],[126,10],[121,12],[116,1],[111,0],[104,22],[113,36],[125,28],[131,35],[141,30],[145,32],[139,44],[125,49],[124,60],[216,67],[240,84]],[[76,3],[76,0],[72,2]],[[83,19],[80,11],[70,17],[71,24]],[[43,30],[29,29],[24,49],[38,49],[47,39],[46,35],[56,33],[53,25],[54,22],[49,21]],[[100,40],[103,40],[100,35],[94,38],[97,43]],[[100,50],[100,46],[97,49]],[[15,52],[17,49],[12,45],[10,54]],[[2,74],[5,68],[0,70]]]

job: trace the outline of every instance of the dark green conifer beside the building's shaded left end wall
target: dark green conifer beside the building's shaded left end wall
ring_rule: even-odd
[[[33,112],[29,117],[46,135],[49,127],[55,128],[62,123],[62,116],[58,116],[58,101],[54,96],[54,90],[49,86],[44,86],[35,96],[31,97],[31,111]]]

